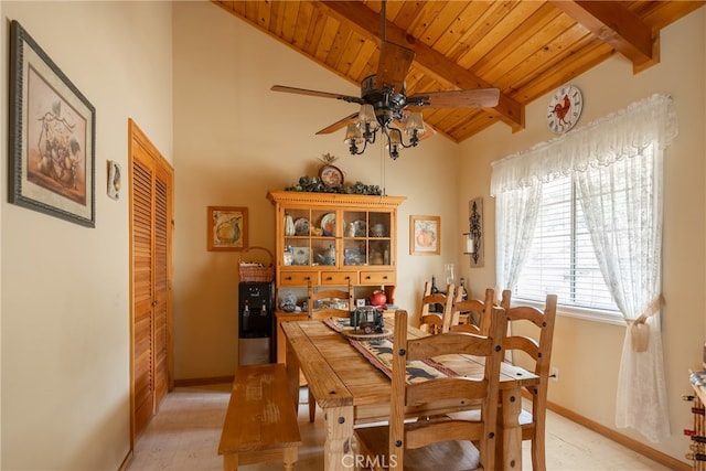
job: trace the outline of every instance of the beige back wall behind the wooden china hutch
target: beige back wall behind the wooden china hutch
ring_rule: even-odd
[[[275,85],[359,95],[357,85],[207,3],[174,6],[176,378],[229,375],[237,365],[238,253],[206,250],[206,207],[247,206],[249,245],[275,247],[268,190],[315,175],[330,152],[345,180],[384,186],[399,210],[395,301],[413,308],[424,281],[454,261],[457,144],[443,137],[396,161],[379,146],[352,157],[343,130],[315,131],[356,110],[343,101],[271,92]],[[441,216],[440,257],[408,256],[409,215]]]

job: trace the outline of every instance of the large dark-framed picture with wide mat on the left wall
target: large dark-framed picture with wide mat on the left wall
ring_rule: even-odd
[[[17,20],[10,24],[9,201],[96,225],[96,109]]]

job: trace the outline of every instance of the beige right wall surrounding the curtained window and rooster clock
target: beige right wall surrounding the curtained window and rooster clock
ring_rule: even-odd
[[[628,61],[617,55],[573,81],[584,92],[586,103],[578,126],[655,93],[674,98],[680,133],[665,157],[663,293],[666,306],[662,315],[673,437],[663,443],[650,445],[677,459],[683,459],[686,449],[682,429],[692,426],[688,405],[681,400],[681,395],[689,390],[687,370],[700,364],[705,332],[704,31],[706,10],[700,9],[662,31],[661,64],[633,75]],[[489,197],[490,163],[554,138],[545,121],[548,100],[547,95],[527,106],[524,131],[511,135],[506,127],[495,125],[461,144],[464,176],[459,200],[462,202],[478,195],[485,197],[486,254],[494,253],[494,201]],[[463,208],[459,211],[463,214]],[[480,296],[485,287],[495,286],[493,257],[486,257],[484,268],[470,270],[469,278],[475,296]],[[553,366],[559,368],[559,381],[549,383],[549,400],[616,428],[618,364],[624,331],[623,325],[560,315],[552,356]],[[630,430],[619,431],[641,440]]]

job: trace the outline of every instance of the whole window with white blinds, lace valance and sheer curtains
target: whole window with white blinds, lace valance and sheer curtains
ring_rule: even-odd
[[[653,95],[493,162],[491,176],[501,289],[512,289],[514,299],[520,290],[530,298],[556,290],[559,302],[593,307],[577,315],[597,319],[609,302],[600,265],[620,306],[603,318],[649,327],[625,330],[616,425],[654,442],[670,436],[660,329],[662,180],[664,150],[676,133],[672,98]],[[644,351],[633,335],[650,339]]]

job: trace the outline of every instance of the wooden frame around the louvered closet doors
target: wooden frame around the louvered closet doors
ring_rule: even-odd
[[[132,188],[132,165],[136,147],[140,146],[147,151],[156,168],[163,170],[170,179],[168,189],[167,203],[167,371],[168,371],[168,390],[174,388],[174,353],[173,353],[173,226],[174,226],[174,170],[172,165],[162,157],[157,147],[149,140],[147,135],[137,126],[137,124],[128,119],[128,184],[129,184],[129,202],[128,202],[128,223],[129,223],[129,289],[130,289],[130,454],[135,450],[136,441],[136,399],[135,399],[135,272],[133,272],[133,188]],[[154,363],[152,362],[152,367]],[[153,404],[152,414],[157,413],[158,404]]]

